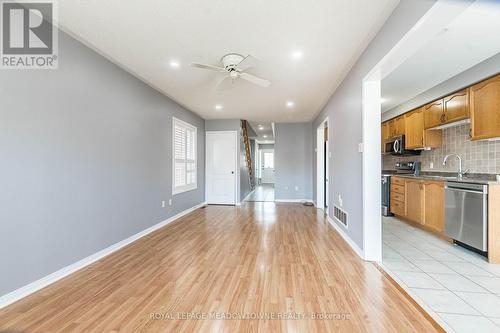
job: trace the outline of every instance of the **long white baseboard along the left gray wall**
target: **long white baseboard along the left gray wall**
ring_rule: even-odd
[[[37,281],[34,281],[34,282],[24,286],[24,287],[16,289],[16,290],[14,290],[6,295],[0,296],[0,309],[3,307],[6,307],[7,305],[12,304],[12,303],[20,300],[21,298],[24,298],[24,297],[42,289],[42,288],[45,288],[46,286],[68,276],[71,273],[74,273],[74,272],[84,268],[85,266],[88,266],[88,265],[102,259],[105,256],[110,255],[111,253],[113,253],[115,251],[118,251],[119,249],[123,248],[124,246],[135,242],[139,238],[142,238],[142,237],[152,233],[153,231],[156,231],[156,230],[166,226],[167,224],[172,223],[173,221],[179,219],[180,217],[187,215],[187,214],[193,212],[194,210],[196,210],[204,205],[206,205],[205,202],[198,204],[196,206],[193,206],[191,208],[188,208],[188,209],[180,212],[179,214],[176,214],[172,217],[169,217],[168,219],[166,219],[158,224],[155,224],[152,227],[149,227],[149,228],[147,228],[147,229],[145,229],[145,230],[143,230],[135,235],[130,236],[129,238],[126,238],[118,243],[115,243],[115,244],[113,244],[113,245],[111,245],[111,246],[109,246],[109,247],[107,247],[99,252],[96,252],[96,253],[94,253],[86,258],[83,258],[83,259],[75,262],[74,264],[63,267],[60,270],[58,270],[54,273],[51,273],[51,274],[49,274],[49,275],[47,275],[47,276],[45,276]]]

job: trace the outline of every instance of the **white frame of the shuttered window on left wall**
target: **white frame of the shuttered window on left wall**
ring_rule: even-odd
[[[175,127],[184,127],[186,129],[186,133],[188,131],[194,132],[194,140],[193,140],[193,150],[194,150],[194,160],[188,160],[187,158],[179,160],[175,158]],[[187,138],[186,138],[186,154],[188,151],[187,147]],[[184,186],[175,186],[175,164],[176,163],[184,163],[185,165],[185,177],[187,179],[187,166],[188,164],[194,163],[194,183]],[[176,117],[172,117],[172,195],[196,190],[198,188],[198,128],[188,122],[180,120]]]

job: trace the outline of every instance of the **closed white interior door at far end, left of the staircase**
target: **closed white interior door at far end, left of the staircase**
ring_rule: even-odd
[[[206,200],[208,204],[236,204],[236,131],[206,132]]]

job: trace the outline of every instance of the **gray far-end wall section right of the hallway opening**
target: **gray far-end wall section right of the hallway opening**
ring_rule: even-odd
[[[311,123],[275,124],[275,199],[312,199]],[[298,190],[295,187],[298,187]]]

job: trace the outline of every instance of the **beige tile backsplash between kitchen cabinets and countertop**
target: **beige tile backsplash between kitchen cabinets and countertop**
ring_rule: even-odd
[[[382,168],[393,170],[396,162],[420,161],[423,171],[456,172],[457,158],[448,158],[446,165],[443,159],[448,154],[458,154],[462,157],[462,167],[470,173],[500,174],[500,141],[471,141],[469,128],[470,125],[465,124],[444,129],[443,146],[422,151],[419,156],[382,155]]]

